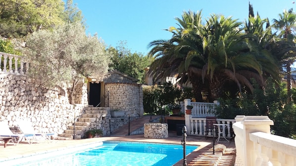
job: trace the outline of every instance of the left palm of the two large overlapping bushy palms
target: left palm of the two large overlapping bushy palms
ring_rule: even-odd
[[[173,34],[170,40],[149,43],[148,46],[153,47],[149,54],[155,57],[150,71],[153,72],[154,79],[164,79],[170,73],[178,73],[180,82],[186,83],[189,80],[193,84],[195,98],[197,101],[202,101],[201,79],[192,72],[188,72],[192,66],[200,69],[203,66],[198,64],[197,60],[198,56],[202,59],[199,52],[202,50],[202,42],[197,34],[197,29],[201,26],[201,11],[184,12],[182,18],[176,18],[176,20],[179,27],[170,27],[167,30]]]

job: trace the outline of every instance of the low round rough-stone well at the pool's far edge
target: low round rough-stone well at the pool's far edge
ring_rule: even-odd
[[[168,125],[161,123],[146,123],[144,124],[145,138],[167,138]]]

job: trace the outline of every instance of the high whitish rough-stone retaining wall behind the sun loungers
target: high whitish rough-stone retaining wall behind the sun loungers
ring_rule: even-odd
[[[69,104],[66,90],[48,89],[22,75],[0,74],[0,121],[9,126],[25,120],[39,132],[62,133],[84,105]]]

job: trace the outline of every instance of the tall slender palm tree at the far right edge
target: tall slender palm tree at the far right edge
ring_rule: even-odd
[[[278,42],[276,45],[279,46],[279,43],[283,43],[285,46],[286,52],[278,54],[281,57],[282,66],[286,69],[287,76],[287,93],[288,98],[287,102],[292,100],[292,83],[291,83],[291,65],[296,61],[295,53],[295,43],[293,42],[295,35],[294,30],[296,28],[296,13],[293,12],[293,9],[284,10],[282,14],[279,14],[279,19],[273,19],[274,27],[279,30],[279,38],[282,41]],[[283,42],[286,41],[286,42]],[[287,47],[287,45],[290,45]],[[291,48],[290,50],[287,48]]]

